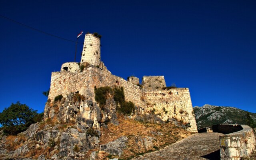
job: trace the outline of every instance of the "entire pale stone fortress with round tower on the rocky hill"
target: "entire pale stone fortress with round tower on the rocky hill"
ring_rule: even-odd
[[[81,66],[84,68],[81,69]],[[86,120],[93,120],[97,124],[96,128],[99,128],[101,118],[96,116],[96,112],[101,111],[92,109],[92,106],[98,106],[94,99],[94,86],[123,87],[125,100],[136,106],[134,114],[152,114],[153,111],[164,121],[174,118],[187,124],[188,131],[197,132],[188,88],[166,88],[164,76],[144,76],[140,86],[137,77],[130,76],[128,80],[124,80],[112,75],[100,59],[100,38],[94,34],[86,34],[81,62],[66,62],[62,64],[60,72],[52,72],[48,99],[54,100],[60,94],[67,98],[71,92],[79,92],[85,100],[75,109],[80,114],[74,119],[82,119],[76,123],[83,124]],[[64,114],[63,116],[65,117]],[[51,107],[46,105],[44,118],[48,117],[52,117]]]

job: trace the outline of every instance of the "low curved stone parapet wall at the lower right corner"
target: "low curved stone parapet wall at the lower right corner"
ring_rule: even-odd
[[[255,150],[255,136],[247,125],[241,125],[242,130],[220,136],[221,160],[240,160],[249,156]]]

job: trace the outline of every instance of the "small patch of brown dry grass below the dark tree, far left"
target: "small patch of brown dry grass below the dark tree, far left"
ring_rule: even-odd
[[[24,135],[9,135],[6,137],[6,149],[8,151],[14,151],[20,148],[26,140],[27,139]]]

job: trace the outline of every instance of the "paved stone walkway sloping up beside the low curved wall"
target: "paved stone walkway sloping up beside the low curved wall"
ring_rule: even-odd
[[[221,133],[197,133],[133,160],[220,160]]]

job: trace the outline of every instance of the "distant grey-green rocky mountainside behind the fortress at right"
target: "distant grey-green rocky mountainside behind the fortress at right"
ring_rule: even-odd
[[[197,128],[204,128],[214,124],[246,124],[246,111],[235,107],[212,106],[193,107],[196,115]],[[250,113],[256,120],[256,113]]]

